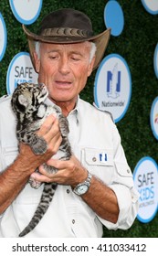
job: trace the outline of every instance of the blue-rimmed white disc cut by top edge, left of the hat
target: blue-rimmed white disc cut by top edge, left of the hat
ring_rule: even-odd
[[[37,20],[42,8],[42,0],[9,0],[9,3],[16,19],[26,25]]]

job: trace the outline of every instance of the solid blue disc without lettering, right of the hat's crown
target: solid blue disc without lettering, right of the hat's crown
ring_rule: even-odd
[[[120,36],[124,27],[124,16],[121,5],[111,0],[105,5],[104,8],[104,22],[107,28],[111,28],[112,36]]]

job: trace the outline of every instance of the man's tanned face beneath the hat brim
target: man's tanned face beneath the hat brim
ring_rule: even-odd
[[[53,101],[76,101],[92,71],[90,49],[90,42],[40,44],[40,59],[35,53],[38,82],[46,84]]]

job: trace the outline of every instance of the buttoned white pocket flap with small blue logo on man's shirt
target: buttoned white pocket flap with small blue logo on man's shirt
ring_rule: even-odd
[[[111,149],[85,148],[84,152],[89,165],[113,165]]]

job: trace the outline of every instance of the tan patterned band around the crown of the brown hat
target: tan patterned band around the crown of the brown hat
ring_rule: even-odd
[[[47,37],[91,37],[92,32],[69,27],[53,27],[42,30],[40,36]]]

